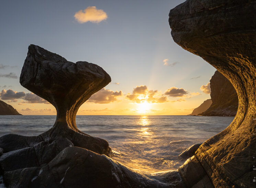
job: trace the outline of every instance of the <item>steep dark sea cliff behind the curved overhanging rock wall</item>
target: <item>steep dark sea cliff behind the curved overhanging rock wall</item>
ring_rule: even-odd
[[[237,93],[219,71],[216,71],[210,80],[211,106],[199,115],[202,116],[235,116],[238,108]]]

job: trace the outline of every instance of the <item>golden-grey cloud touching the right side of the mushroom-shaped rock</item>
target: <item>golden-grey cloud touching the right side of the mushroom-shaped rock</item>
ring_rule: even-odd
[[[87,102],[89,103],[99,103],[99,104],[108,104],[117,101],[118,96],[122,96],[123,92],[114,92],[111,90],[106,90],[105,88],[101,89],[97,93],[93,94]]]

